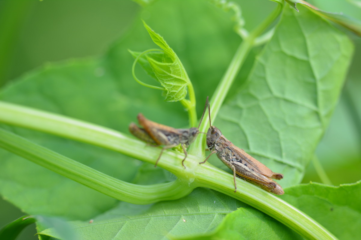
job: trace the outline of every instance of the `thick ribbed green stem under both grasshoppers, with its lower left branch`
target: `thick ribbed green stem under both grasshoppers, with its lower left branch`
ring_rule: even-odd
[[[120,132],[58,114],[47,113],[1,101],[0,113],[0,122],[2,123],[87,142],[118,151],[145,162],[155,163],[155,159],[157,159],[160,153],[160,148],[146,146],[143,142],[127,137]],[[30,143],[22,137],[4,130],[1,131],[0,143],[5,149],[13,151],[24,158],[31,158],[30,160],[41,166],[81,182],[101,193],[114,196],[117,199],[120,198],[119,196],[123,196],[122,199],[128,199],[132,203],[145,204],[170,199],[171,196],[169,192],[171,192],[173,188],[184,189],[182,191],[184,191],[184,195],[186,195],[195,187],[204,186],[230,195],[269,214],[307,239],[336,239],[312,218],[283,200],[248,182],[237,179],[238,189],[237,193],[234,193],[233,176],[231,174],[208,163],[200,165],[199,162],[203,160],[203,158],[200,159],[193,155],[188,154],[185,162],[187,168],[184,169],[181,164],[184,154],[170,150],[164,151],[158,166],[176,175],[179,183],[174,183],[177,184],[176,187],[171,186],[171,184],[151,185],[150,188],[152,188],[152,186],[155,188],[154,194],[160,194],[156,191],[155,186],[163,186],[164,190],[162,190],[162,193],[164,194],[164,198],[157,196],[148,199],[153,194],[149,186],[146,186],[146,189],[142,189],[140,185],[130,185],[129,183],[106,176],[81,163],[61,155],[59,156],[57,153]],[[162,159],[167,160],[164,161]],[[73,168],[75,168],[76,171],[71,171]],[[97,182],[95,180],[99,181]],[[123,191],[126,187],[132,187],[133,190],[127,193],[127,191]],[[173,199],[182,196],[182,191],[174,191],[176,195]],[[143,200],[139,200],[142,198]]]

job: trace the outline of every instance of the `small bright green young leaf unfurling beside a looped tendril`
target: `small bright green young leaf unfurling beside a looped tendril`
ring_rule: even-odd
[[[187,86],[190,84],[190,80],[181,60],[163,37],[154,32],[145,22],[144,26],[153,42],[161,47],[162,50],[145,51],[143,53],[130,51],[130,53],[135,58],[138,58],[138,63],[145,72],[158,80],[162,87],[164,87],[166,101],[180,101],[184,99],[187,95]]]

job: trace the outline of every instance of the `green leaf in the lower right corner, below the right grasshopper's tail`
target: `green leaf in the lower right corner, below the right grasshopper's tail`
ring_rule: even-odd
[[[309,183],[280,196],[329,229],[340,240],[361,235],[361,182],[338,187]]]

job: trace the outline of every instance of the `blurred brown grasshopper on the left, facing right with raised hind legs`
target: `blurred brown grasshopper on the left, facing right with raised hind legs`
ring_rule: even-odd
[[[142,126],[143,128],[138,127],[135,123],[130,123],[129,131],[135,137],[138,137],[140,140],[147,142],[152,146],[163,145],[163,148],[160,152],[160,155],[154,167],[157,167],[158,161],[165,149],[174,148],[175,146],[181,144],[185,155],[182,161],[182,166],[186,168],[186,166],[184,166],[184,160],[186,160],[187,158],[186,146],[190,145],[196,139],[198,133],[200,133],[199,126],[204,117],[207,104],[208,104],[208,97],[198,127],[173,128],[150,121],[147,118],[145,118],[142,113],[139,113],[137,116],[138,122],[140,126]]]

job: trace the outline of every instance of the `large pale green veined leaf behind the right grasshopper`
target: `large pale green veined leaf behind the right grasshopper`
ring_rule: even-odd
[[[352,50],[347,36],[318,15],[285,8],[247,85],[222,106],[215,125],[284,173],[283,187],[299,183],[330,121]]]

